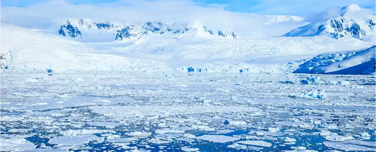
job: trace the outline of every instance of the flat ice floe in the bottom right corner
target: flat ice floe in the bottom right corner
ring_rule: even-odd
[[[348,144],[348,143],[338,143],[332,141],[324,141],[323,144],[326,147],[338,149],[338,150],[345,150],[345,151],[376,151],[374,148],[365,147],[365,146],[358,146],[355,144]]]

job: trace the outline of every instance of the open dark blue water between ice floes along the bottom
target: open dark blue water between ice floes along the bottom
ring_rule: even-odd
[[[218,134],[218,135],[227,135],[227,136],[246,135],[246,134],[248,134],[249,131],[251,131],[251,130],[248,130],[248,129],[237,130],[235,132],[230,132],[230,133],[227,133],[227,134]],[[283,132],[283,130],[281,130],[281,131]],[[285,134],[285,135],[282,135],[282,136],[276,136],[278,138],[277,141],[264,140],[264,141],[267,141],[267,142],[273,144],[273,146],[262,147],[263,149],[261,151],[280,152],[282,150],[294,150],[294,149],[291,148],[293,146],[303,146],[303,147],[306,147],[309,150],[317,150],[319,152],[325,151],[325,150],[334,150],[332,148],[328,148],[328,147],[324,146],[323,144],[321,144],[325,140],[320,135],[316,135],[315,132],[319,132],[319,131],[318,130],[305,130],[304,133],[308,133],[308,135],[307,134],[302,135],[302,134],[296,134],[296,133],[294,133],[293,135]],[[372,135],[373,132],[374,131],[369,131],[369,134]],[[208,133],[205,133],[205,132],[202,132],[202,131],[186,131],[186,133],[191,133],[191,134],[194,134],[196,136],[208,134]],[[100,137],[100,134],[96,134],[96,135]],[[281,139],[281,137],[295,138],[297,140],[296,144],[284,144],[284,141]],[[375,139],[376,139],[376,135],[372,135],[371,140],[369,140],[369,141],[375,141]],[[48,143],[49,139],[40,138],[40,137],[38,137],[38,135],[28,137],[28,138],[26,138],[26,140],[29,140],[30,142],[38,145],[37,147],[40,147],[41,144],[45,144],[46,146],[51,146],[51,147],[55,146],[55,144],[49,144]],[[237,140],[237,141],[242,141],[242,140],[245,140],[245,139],[241,139],[241,140]],[[252,139],[250,139],[250,140],[252,140]],[[140,139],[137,142],[133,142],[128,146],[130,146],[130,147],[137,146],[137,147],[139,147],[139,149],[142,149],[143,147],[139,146],[140,142],[147,142],[146,138]],[[152,147],[152,148],[147,148],[146,150],[152,150],[153,152],[154,151],[160,151],[160,150],[162,150],[164,152],[176,152],[176,151],[180,151],[180,148],[185,147],[185,146],[190,146],[191,148],[199,148],[200,152],[213,152],[213,151],[216,151],[216,152],[235,152],[235,151],[243,152],[244,151],[244,152],[246,152],[246,151],[250,151],[250,150],[239,150],[239,149],[227,148],[227,146],[233,144],[233,142],[213,143],[213,142],[208,142],[208,141],[195,140],[192,143],[188,143],[188,142],[185,142],[185,141],[174,140],[173,142],[167,143],[167,144],[153,144],[153,143],[143,143],[143,144],[147,144],[148,146]],[[159,146],[165,146],[165,147],[160,148]],[[251,145],[247,145],[247,146],[251,146]],[[114,151],[114,152],[123,152],[124,151],[124,149],[119,149],[119,147],[112,146],[111,143],[108,143],[106,141],[103,141],[103,142],[102,141],[100,141],[100,142],[91,141],[90,143],[86,144],[86,147],[92,147],[92,149],[87,149],[89,152],[103,152],[104,150]],[[258,147],[258,146],[255,146],[255,147]],[[128,149],[128,150],[130,150],[130,149]],[[73,150],[73,151],[74,152],[80,152],[82,150]]]

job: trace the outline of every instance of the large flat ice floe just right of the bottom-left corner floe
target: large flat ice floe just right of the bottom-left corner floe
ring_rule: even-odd
[[[93,140],[99,140],[100,137],[96,135],[80,135],[80,136],[63,136],[55,137],[48,141],[50,144],[57,144],[58,146],[70,146],[86,144]]]

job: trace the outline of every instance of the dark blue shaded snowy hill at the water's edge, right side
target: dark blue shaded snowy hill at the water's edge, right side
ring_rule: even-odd
[[[376,46],[360,51],[324,53],[303,63],[295,73],[376,74]]]

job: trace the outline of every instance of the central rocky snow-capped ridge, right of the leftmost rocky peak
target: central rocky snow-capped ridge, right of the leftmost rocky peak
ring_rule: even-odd
[[[212,38],[213,36],[232,39],[237,38],[237,35],[233,31],[218,30],[217,32],[214,32],[213,30],[208,30],[208,28],[199,21],[196,21],[191,24],[173,23],[168,25],[160,22],[147,22],[139,26],[130,25],[120,30],[117,33],[115,40],[138,39],[141,35],[167,35],[175,36],[176,38],[181,38],[185,35],[200,38]]]

